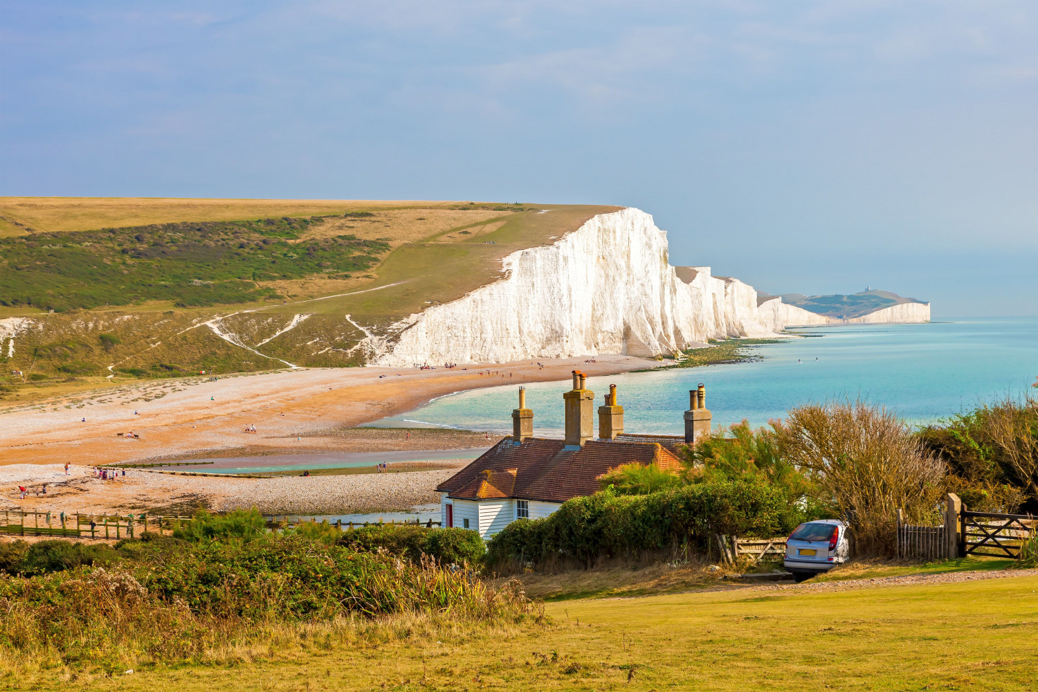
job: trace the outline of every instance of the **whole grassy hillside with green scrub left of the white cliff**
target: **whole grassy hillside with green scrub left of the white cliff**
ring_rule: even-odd
[[[361,364],[362,330],[456,300],[507,254],[616,209],[0,198],[0,320],[31,321],[0,323],[0,396],[110,372]],[[204,325],[218,316],[237,343]]]

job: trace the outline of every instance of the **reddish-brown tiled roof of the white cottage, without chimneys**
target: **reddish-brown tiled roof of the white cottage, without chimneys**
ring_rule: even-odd
[[[565,502],[601,490],[598,477],[611,468],[654,462],[668,470],[681,468],[678,458],[658,442],[590,440],[571,450],[563,440],[528,438],[517,445],[504,438],[436,490],[469,500]]]

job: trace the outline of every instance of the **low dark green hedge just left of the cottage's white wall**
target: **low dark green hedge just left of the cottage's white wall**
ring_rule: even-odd
[[[339,545],[354,550],[378,552],[383,548],[393,555],[417,562],[422,554],[441,564],[480,564],[487,552],[475,531],[460,528],[425,528],[416,524],[364,526],[343,532]]]

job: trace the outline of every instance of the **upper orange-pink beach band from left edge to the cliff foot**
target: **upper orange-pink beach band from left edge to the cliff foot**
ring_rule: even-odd
[[[66,461],[93,466],[200,456],[435,448],[430,446],[434,434],[416,430],[474,438],[463,444],[450,441],[454,447],[486,446],[485,439],[479,439],[483,432],[415,428],[408,439],[406,428],[363,428],[365,433],[359,436],[356,430],[458,391],[563,382],[574,369],[605,376],[660,364],[616,355],[548,359],[543,367],[536,362],[429,370],[297,368],[225,376],[215,382],[185,378],[5,407],[0,409],[0,468]],[[257,433],[245,433],[248,425],[254,425]],[[119,437],[129,432],[139,437]],[[379,436],[384,439],[375,439]]]

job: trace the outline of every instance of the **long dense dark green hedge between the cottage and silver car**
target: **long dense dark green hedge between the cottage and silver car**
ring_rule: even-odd
[[[552,559],[590,564],[601,557],[663,550],[714,533],[782,535],[816,517],[773,487],[754,482],[700,483],[653,493],[618,496],[597,493],[565,502],[544,519],[520,519],[496,534],[487,562]]]

